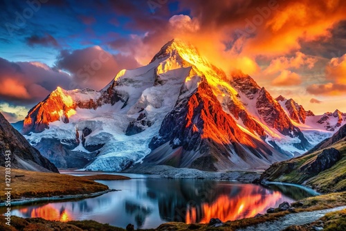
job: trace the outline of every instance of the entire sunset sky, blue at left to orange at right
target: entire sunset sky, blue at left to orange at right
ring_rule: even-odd
[[[10,122],[57,86],[102,89],[173,38],[273,97],[346,112],[343,0],[5,0],[0,9],[0,111]]]

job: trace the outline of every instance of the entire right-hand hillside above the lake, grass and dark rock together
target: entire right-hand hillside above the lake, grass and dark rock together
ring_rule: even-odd
[[[271,165],[262,181],[307,184],[320,192],[346,189],[346,125],[303,156]]]

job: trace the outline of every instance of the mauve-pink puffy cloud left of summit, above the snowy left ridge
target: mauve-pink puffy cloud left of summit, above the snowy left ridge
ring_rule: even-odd
[[[71,73],[73,81],[69,89],[86,87],[100,90],[122,69],[137,68],[133,57],[121,54],[111,55],[100,46],[93,46],[72,52],[63,50],[57,59],[59,69]]]

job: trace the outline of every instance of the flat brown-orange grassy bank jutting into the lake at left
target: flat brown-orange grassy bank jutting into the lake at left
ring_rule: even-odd
[[[5,177],[5,168],[0,167],[1,177]],[[20,177],[15,177],[15,176]],[[24,176],[22,176],[24,175]],[[5,185],[3,185],[5,186]],[[27,197],[46,197],[60,195],[88,194],[108,190],[102,185],[86,178],[64,174],[31,172],[23,169],[11,170],[12,199]],[[0,200],[5,199],[4,187],[0,190]]]

